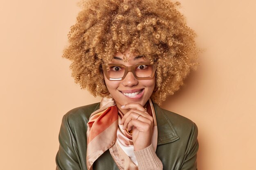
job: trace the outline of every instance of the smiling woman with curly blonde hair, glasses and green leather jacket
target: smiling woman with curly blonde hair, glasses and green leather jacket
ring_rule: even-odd
[[[196,125],[158,106],[198,65],[195,33],[178,5],[82,3],[63,57],[75,82],[103,98],[63,116],[57,170],[197,169]]]

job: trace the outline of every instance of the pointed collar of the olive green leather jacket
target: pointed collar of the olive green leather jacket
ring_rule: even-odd
[[[157,146],[168,144],[179,140],[177,132],[175,131],[173,124],[167,118],[163,109],[159,107],[156,103],[153,103],[155,109],[155,116],[157,119]],[[100,108],[100,103],[94,109],[94,112]]]

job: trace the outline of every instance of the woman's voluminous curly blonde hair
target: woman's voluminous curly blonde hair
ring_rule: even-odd
[[[108,92],[101,64],[127,49],[157,62],[156,92],[150,98],[159,105],[196,69],[196,35],[177,11],[179,2],[83,0],[80,5],[63,57],[72,61],[72,76],[81,89],[94,96]]]

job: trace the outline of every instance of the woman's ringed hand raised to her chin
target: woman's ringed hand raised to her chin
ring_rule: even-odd
[[[120,124],[124,124],[123,129],[127,128],[128,131],[133,126],[132,141],[134,150],[137,151],[150,146],[153,133],[153,117],[138,103],[128,103],[121,108],[130,109],[124,115]]]

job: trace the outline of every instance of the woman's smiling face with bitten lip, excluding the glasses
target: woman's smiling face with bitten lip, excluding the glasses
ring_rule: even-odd
[[[124,62],[124,54],[129,57],[128,62]],[[126,50],[124,54],[117,52],[115,58],[110,63],[119,63],[125,66],[132,66],[138,63],[148,62],[148,60],[144,59],[143,57],[130,54],[129,50]],[[105,74],[104,78],[108,91],[114,98],[119,109],[122,105],[126,105],[128,103],[139,103],[144,106],[153,93],[155,87],[155,76],[147,80],[137,80],[132,72],[128,72],[126,77],[120,81],[108,80]]]

